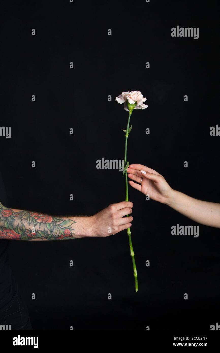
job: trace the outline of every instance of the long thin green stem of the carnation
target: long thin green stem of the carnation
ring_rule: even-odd
[[[129,124],[130,124],[130,118],[131,118],[131,113],[129,113],[128,121],[127,121],[127,130],[125,132],[125,157],[124,157],[124,165],[127,162],[127,138],[128,138],[128,131],[129,131]],[[126,190],[126,196],[125,196],[125,201],[128,201],[128,183],[127,183],[127,172],[125,172],[125,190]],[[129,217],[129,215],[127,215]],[[136,269],[136,264],[135,264],[135,253],[133,251],[133,246],[132,246],[132,241],[131,241],[131,230],[130,228],[127,228],[127,235],[129,239],[129,246],[130,246],[130,255],[132,259],[132,264],[133,264],[133,275],[135,277],[135,290],[136,292],[138,291],[138,282],[137,282],[137,269]]]

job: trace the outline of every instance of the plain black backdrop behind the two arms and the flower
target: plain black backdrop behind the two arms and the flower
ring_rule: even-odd
[[[115,97],[127,90],[140,90],[148,104],[131,117],[130,163],[157,170],[173,189],[219,202],[220,137],[209,134],[220,124],[217,1],[5,1],[1,17],[0,124],[12,136],[0,137],[0,161],[9,207],[92,215],[123,201],[122,173],[97,169],[96,160],[123,159],[128,114]],[[171,37],[177,25],[199,27],[198,40]],[[137,293],[125,231],[11,241],[34,329],[193,333],[220,323],[219,229],[171,235],[177,223],[197,223],[131,188],[129,199]]]

